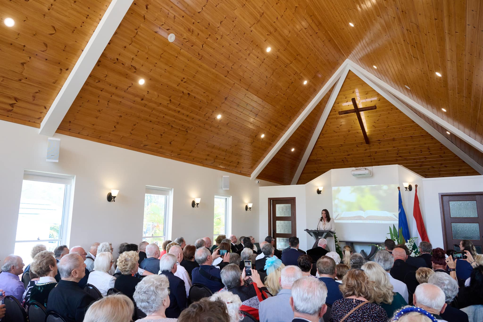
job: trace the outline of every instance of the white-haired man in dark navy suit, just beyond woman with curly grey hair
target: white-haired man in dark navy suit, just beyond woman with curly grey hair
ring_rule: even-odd
[[[177,319],[181,311],[186,308],[185,282],[179,277],[174,276],[177,268],[176,256],[166,254],[161,257],[159,262],[159,275],[166,276],[170,282],[170,306],[166,308],[166,317],[172,319]]]

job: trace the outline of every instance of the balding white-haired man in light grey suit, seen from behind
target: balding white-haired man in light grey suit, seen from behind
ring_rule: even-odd
[[[276,295],[260,302],[258,316],[260,322],[291,322],[294,318],[294,311],[290,307],[290,297],[292,296],[292,285],[302,278],[302,271],[298,266],[286,266],[282,269],[280,284],[282,290]]]

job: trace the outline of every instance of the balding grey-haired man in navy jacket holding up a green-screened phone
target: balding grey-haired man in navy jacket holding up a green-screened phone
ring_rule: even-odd
[[[213,253],[218,257],[217,253]],[[206,248],[200,248],[195,253],[195,261],[199,264],[199,267],[193,268],[191,276],[193,277],[193,284],[198,283],[206,286],[213,293],[218,292],[223,288],[221,282],[220,269],[216,266],[212,266],[213,254]],[[227,253],[227,255],[229,255]],[[229,261],[229,256],[224,256],[223,262]]]

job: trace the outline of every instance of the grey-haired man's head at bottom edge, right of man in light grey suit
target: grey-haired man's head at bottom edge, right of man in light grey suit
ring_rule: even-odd
[[[327,311],[326,297],[324,283],[309,277],[296,280],[290,297],[290,307],[294,311],[292,322],[318,322]]]

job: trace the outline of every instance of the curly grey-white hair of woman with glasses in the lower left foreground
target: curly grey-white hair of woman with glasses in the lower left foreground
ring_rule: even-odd
[[[170,282],[166,276],[149,275],[136,285],[132,297],[136,306],[145,314],[153,314],[163,306],[163,301],[169,294],[169,287]]]

